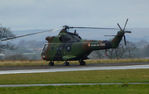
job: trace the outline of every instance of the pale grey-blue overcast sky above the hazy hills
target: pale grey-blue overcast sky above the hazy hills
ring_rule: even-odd
[[[13,30],[62,25],[149,28],[149,0],[0,0],[0,23]]]

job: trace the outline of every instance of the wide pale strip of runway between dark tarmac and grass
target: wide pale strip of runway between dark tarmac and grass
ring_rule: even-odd
[[[128,65],[128,66],[79,66],[62,67],[49,69],[25,69],[25,70],[2,70],[0,74],[18,74],[18,73],[43,73],[43,72],[68,72],[68,71],[88,71],[88,70],[124,70],[124,69],[149,69],[149,65]]]

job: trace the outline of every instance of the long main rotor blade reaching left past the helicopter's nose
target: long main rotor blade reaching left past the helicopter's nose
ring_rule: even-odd
[[[7,40],[11,40],[11,39],[20,38],[20,37],[26,37],[26,36],[36,35],[36,34],[40,34],[40,33],[45,33],[45,32],[54,32],[54,31],[56,31],[56,30],[55,30],[55,29],[51,29],[51,30],[46,30],[46,31],[40,31],[40,32],[35,32],[35,33],[29,33],[29,34],[24,34],[24,35],[15,36],[15,37],[8,37],[8,38],[2,39],[2,40],[0,40],[0,41],[7,41]]]

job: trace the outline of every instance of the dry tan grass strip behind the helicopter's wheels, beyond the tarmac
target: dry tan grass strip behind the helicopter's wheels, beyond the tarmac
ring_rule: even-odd
[[[92,59],[92,60],[86,60],[87,64],[90,63],[129,63],[129,62],[149,62],[149,59]],[[55,62],[55,64],[62,64],[63,61]],[[70,64],[79,64],[78,61],[71,61]],[[43,60],[36,60],[36,61],[0,61],[0,67],[3,66],[42,66],[42,65],[48,65],[47,61]]]

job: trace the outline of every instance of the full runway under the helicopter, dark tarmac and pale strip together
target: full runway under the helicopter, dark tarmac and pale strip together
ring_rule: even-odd
[[[12,69],[11,69],[12,68]],[[89,71],[89,70],[121,70],[121,69],[149,69],[149,63],[108,63],[89,64],[86,66],[31,66],[31,67],[5,67],[0,68],[0,74],[21,74],[21,73],[46,73],[46,72],[68,72],[68,71]]]

